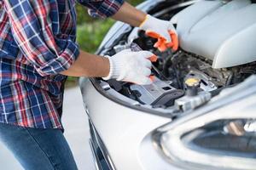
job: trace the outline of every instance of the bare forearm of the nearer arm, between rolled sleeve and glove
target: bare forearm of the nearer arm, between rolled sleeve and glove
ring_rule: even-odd
[[[107,77],[109,73],[108,58],[80,51],[79,58],[61,74],[70,77]]]

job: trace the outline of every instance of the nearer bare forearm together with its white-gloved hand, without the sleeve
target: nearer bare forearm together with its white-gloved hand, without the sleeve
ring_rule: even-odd
[[[103,77],[105,80],[150,84],[151,57],[156,57],[148,51],[132,52],[126,49],[112,57],[101,57],[95,54],[80,52],[79,58],[61,74],[73,77]]]

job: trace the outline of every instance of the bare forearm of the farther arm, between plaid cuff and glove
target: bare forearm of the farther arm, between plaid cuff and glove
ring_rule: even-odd
[[[145,20],[147,14],[137,8],[131,6],[129,3],[124,3],[119,11],[112,16],[113,20],[119,20],[130,24],[131,26],[140,26]]]

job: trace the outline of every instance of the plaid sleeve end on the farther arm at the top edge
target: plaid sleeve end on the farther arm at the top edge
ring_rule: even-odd
[[[107,18],[119,11],[125,3],[124,0],[77,0],[89,8],[88,12],[92,17]]]

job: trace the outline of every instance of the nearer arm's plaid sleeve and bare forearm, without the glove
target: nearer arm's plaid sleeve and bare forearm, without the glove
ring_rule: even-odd
[[[49,17],[48,1],[17,3],[16,0],[4,0],[4,6],[20,50],[41,76],[59,73],[72,77],[108,76],[107,58],[79,50],[78,44],[69,37],[55,39],[51,30],[55,20]],[[39,6],[41,13],[35,10]],[[65,43],[65,47],[58,46],[57,41]]]

